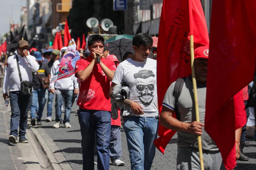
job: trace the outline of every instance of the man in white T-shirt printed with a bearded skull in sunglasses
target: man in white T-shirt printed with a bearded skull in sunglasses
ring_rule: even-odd
[[[155,157],[153,141],[158,131],[156,60],[149,59],[153,44],[147,33],[136,34],[132,40],[134,55],[120,63],[112,80],[109,96],[117,84],[128,84],[131,96],[121,99],[130,106],[130,116],[124,117],[124,130],[132,170],[148,170]]]

